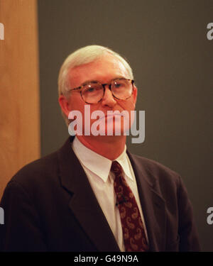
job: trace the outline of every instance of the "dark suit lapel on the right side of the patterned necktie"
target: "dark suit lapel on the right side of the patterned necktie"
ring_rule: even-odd
[[[157,192],[155,177],[146,170],[141,158],[130,153],[128,155],[136,176],[150,250],[163,251],[166,239],[165,201]]]

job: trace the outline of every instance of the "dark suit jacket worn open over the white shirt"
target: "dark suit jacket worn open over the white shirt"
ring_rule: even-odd
[[[11,179],[0,206],[1,250],[119,251],[69,138]],[[182,180],[158,162],[131,155],[151,251],[197,251],[192,206]]]

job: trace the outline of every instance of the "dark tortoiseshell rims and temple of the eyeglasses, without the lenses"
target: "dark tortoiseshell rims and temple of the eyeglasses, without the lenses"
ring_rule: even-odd
[[[120,79],[125,79],[125,78],[121,77],[121,78],[118,78],[118,79],[112,79],[112,80],[111,80],[111,83],[112,83],[113,81],[115,81],[115,80],[120,80]],[[72,91],[76,91],[76,90],[78,90],[78,89],[81,89],[80,94],[81,94],[82,100],[84,101],[83,96],[82,96],[82,89],[84,88],[84,86],[87,85],[87,84],[89,84],[89,83],[100,84],[100,85],[102,85],[102,87],[103,87],[103,89],[104,89],[104,93],[103,93],[103,96],[102,96],[102,99],[103,99],[103,98],[104,98],[104,94],[105,94],[105,90],[106,90],[105,86],[108,85],[108,86],[109,86],[109,90],[110,90],[112,96],[114,96],[115,99],[117,99],[117,100],[119,100],[119,101],[126,101],[127,99],[129,99],[129,98],[132,96],[132,94],[133,94],[133,90],[134,90],[134,87],[133,87],[134,80],[133,80],[133,79],[126,79],[126,80],[131,81],[131,85],[132,85],[132,92],[131,92],[131,95],[130,95],[128,98],[126,98],[126,99],[119,99],[119,98],[117,98],[116,96],[114,96],[114,94],[111,92],[111,83],[104,83],[104,84],[102,84],[101,82],[87,82],[87,83],[81,85],[80,87],[73,88],[73,89],[69,89],[67,92],[72,92]],[[99,101],[102,101],[102,99],[99,99]],[[99,101],[97,101],[97,103],[92,103],[92,104],[98,104]],[[90,103],[88,103],[87,101],[84,101],[84,102],[85,102],[86,104],[90,104]]]

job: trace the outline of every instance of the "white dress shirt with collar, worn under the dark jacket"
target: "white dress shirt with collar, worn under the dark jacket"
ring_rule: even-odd
[[[94,151],[85,147],[77,137],[72,142],[72,149],[74,150],[74,153],[77,156],[78,160],[80,160],[84,172],[87,174],[87,178],[92,187],[94,195],[96,196],[97,201],[102,208],[104,216],[107,218],[111,231],[114,234],[120,250],[125,251],[121,218],[119,208],[116,206],[116,194],[114,192],[114,174],[110,172],[112,161],[107,159],[106,157],[103,157],[102,155],[94,153]],[[126,145],[124,152],[116,158],[116,161],[119,162],[119,164],[123,168],[124,178],[126,179],[127,184],[129,184],[129,187],[131,188],[136,198],[138,209],[141,213],[141,218],[146,232],[146,225],[144,223],[143,212],[138,196],[136,178],[133,173],[129,157],[126,154]]]

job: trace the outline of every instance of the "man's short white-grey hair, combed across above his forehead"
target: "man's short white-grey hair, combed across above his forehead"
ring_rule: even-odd
[[[70,54],[63,62],[58,76],[58,95],[68,95],[68,91],[70,89],[68,73],[72,68],[88,64],[89,62],[94,62],[106,53],[109,53],[117,58],[126,68],[129,74],[129,78],[133,79],[133,72],[131,70],[131,67],[129,63],[123,57],[121,57],[121,55],[104,46],[88,45],[76,50],[75,52],[72,52],[72,54]],[[62,116],[65,118],[65,121],[68,125],[70,121],[63,112]]]

